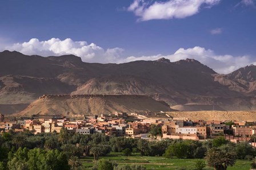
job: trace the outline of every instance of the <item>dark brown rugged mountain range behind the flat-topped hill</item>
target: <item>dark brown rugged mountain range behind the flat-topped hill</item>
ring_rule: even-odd
[[[218,74],[194,59],[99,64],[74,55],[0,52],[0,113],[18,113],[43,94],[135,94],[170,106],[255,110],[256,66]]]

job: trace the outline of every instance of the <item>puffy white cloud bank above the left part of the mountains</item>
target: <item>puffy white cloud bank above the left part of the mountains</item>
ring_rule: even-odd
[[[109,63],[119,57],[123,51],[121,48],[103,49],[98,45],[87,42],[74,42],[71,39],[60,40],[52,38],[46,41],[31,39],[29,42],[15,43],[9,47],[5,47],[10,51],[19,51],[26,55],[67,55],[73,54],[82,58],[85,62]]]

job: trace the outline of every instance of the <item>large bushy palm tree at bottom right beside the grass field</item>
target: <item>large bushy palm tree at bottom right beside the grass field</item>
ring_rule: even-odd
[[[226,170],[227,166],[233,166],[235,164],[236,155],[234,152],[211,148],[206,152],[205,159],[209,167],[213,167],[216,170]]]

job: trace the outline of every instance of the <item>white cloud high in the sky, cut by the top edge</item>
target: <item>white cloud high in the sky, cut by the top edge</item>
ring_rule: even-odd
[[[139,20],[151,19],[172,19],[186,18],[197,14],[202,6],[212,7],[221,0],[169,0],[162,1],[146,1],[134,0],[127,8],[135,15],[139,16]]]

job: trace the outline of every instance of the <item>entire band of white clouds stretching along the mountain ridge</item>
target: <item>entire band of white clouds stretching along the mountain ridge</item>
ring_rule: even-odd
[[[19,51],[26,55],[59,56],[73,54],[81,57],[82,61],[90,63],[127,63],[136,60],[158,60],[161,57],[174,62],[189,58],[200,61],[218,73],[230,73],[246,65],[256,65],[256,60],[250,56],[217,55],[213,50],[203,47],[179,48],[170,55],[123,57],[122,48],[105,50],[94,43],[87,44],[84,41],[74,42],[71,39],[60,40],[52,38],[41,42],[38,39],[31,39],[29,42],[15,43],[5,47],[5,49]]]

